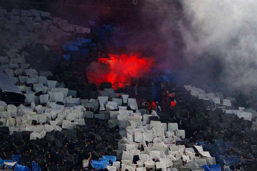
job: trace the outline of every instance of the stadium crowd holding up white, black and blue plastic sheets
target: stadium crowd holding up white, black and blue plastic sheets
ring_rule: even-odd
[[[240,99],[173,86],[167,110],[138,105],[85,77],[87,64],[109,58],[101,40],[117,28],[37,10],[0,14],[2,170],[256,170],[256,113]]]

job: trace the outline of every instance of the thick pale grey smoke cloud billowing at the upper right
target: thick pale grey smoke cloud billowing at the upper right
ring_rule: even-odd
[[[256,1],[185,0],[182,6],[184,56],[198,74],[195,79],[230,89],[256,87]]]

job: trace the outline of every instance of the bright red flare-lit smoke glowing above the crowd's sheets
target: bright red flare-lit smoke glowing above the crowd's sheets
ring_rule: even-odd
[[[87,72],[89,83],[96,85],[111,82],[113,87],[131,84],[131,77],[146,77],[154,64],[153,57],[140,57],[138,54],[110,54],[110,58],[99,58],[93,62]],[[118,83],[117,83],[118,82]]]

